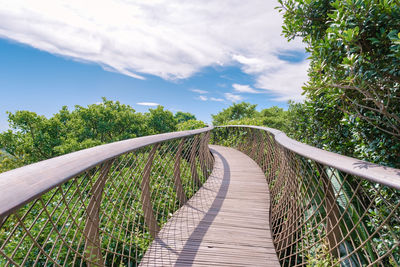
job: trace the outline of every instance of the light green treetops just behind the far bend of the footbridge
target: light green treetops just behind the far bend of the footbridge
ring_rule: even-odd
[[[233,104],[227,109],[222,110],[216,115],[212,115],[214,125],[257,125],[267,126],[282,131],[287,130],[288,116],[287,111],[273,106],[256,110],[257,105],[242,102]]]

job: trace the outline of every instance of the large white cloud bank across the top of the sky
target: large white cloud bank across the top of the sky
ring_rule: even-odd
[[[270,83],[276,81],[273,75],[298,67],[277,55],[303,50],[300,41],[288,43],[281,36],[276,5],[265,0],[0,0],[0,37],[139,79],[144,74],[183,79],[207,66],[239,63],[261,88],[286,98],[289,91],[298,94],[307,77]]]

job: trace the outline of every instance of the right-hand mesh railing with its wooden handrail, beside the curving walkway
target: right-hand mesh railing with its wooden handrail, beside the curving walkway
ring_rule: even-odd
[[[239,149],[265,172],[281,265],[399,266],[400,170],[286,136],[277,141],[281,135],[268,128],[232,126],[217,128],[212,136],[213,143]]]

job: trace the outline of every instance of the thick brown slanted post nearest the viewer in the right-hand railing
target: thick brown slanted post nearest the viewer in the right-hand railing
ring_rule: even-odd
[[[316,164],[325,187],[326,238],[329,243],[329,251],[333,257],[338,258],[340,257],[339,242],[343,240],[338,221],[338,218],[340,218],[340,210],[336,203],[332,183],[326,174],[324,166],[317,162]]]

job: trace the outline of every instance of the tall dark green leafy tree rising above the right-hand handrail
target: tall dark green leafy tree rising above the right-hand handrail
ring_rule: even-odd
[[[316,139],[337,152],[354,150],[369,161],[398,164],[393,161],[400,152],[398,2],[279,2],[285,36],[302,38],[310,55],[307,101],[293,106],[295,124],[304,119],[318,125]],[[304,131],[308,141],[312,132]]]

